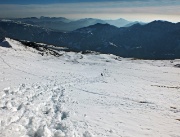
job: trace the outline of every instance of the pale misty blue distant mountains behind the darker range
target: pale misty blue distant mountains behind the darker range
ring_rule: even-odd
[[[110,24],[116,27],[124,27],[124,26],[131,26],[137,22],[127,21],[125,19],[117,19],[117,20],[101,20],[95,18],[84,18],[79,20],[70,20],[64,17],[29,17],[29,18],[11,18],[9,20],[20,22],[20,23],[27,23],[31,25],[37,25],[44,28],[49,28],[53,30],[68,32],[73,31],[82,27],[87,27],[90,25],[94,25],[97,23],[101,24]]]

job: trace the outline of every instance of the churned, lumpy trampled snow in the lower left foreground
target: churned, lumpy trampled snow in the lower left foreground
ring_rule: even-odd
[[[4,89],[0,98],[0,136],[78,136],[66,111],[65,89],[57,84]]]

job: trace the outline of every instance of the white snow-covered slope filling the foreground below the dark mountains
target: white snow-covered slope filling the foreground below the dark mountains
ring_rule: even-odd
[[[0,43],[0,137],[180,137],[179,60]]]

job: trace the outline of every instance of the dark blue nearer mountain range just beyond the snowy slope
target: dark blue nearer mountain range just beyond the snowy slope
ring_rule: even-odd
[[[60,32],[19,21],[2,20],[0,37],[43,42],[74,51],[92,50],[122,57],[180,58],[180,23],[167,21],[153,21],[144,25],[137,23],[120,28],[96,23],[74,31]]]

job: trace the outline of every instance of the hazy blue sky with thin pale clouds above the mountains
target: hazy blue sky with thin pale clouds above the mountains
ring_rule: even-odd
[[[180,0],[0,0],[0,18],[40,16],[180,22]]]

